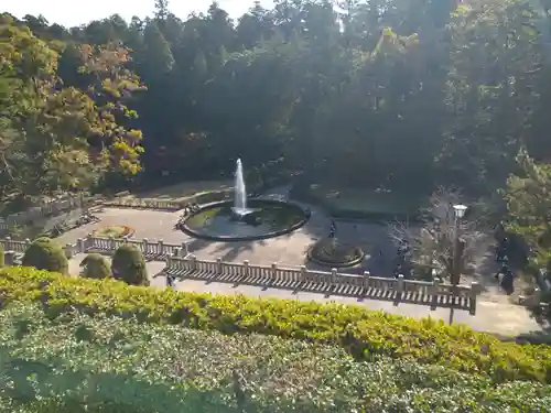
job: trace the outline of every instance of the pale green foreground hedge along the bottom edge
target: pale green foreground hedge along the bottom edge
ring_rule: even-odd
[[[551,387],[410,360],[76,312],[0,312],[0,411],[19,413],[550,412]]]

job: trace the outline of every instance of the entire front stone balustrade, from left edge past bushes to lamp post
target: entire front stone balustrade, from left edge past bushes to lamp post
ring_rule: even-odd
[[[30,240],[17,241],[10,238],[0,240],[6,251],[6,263],[13,262],[14,253],[23,253]],[[83,252],[114,253],[123,244],[137,247],[145,258],[162,259],[166,261],[165,274],[168,278],[196,278],[239,281],[244,284],[258,284],[262,286],[289,286],[294,285],[299,291],[333,292],[333,294],[368,296],[375,300],[390,294],[396,305],[400,302],[437,306],[457,306],[468,309],[472,314],[476,309],[476,300],[480,293],[478,283],[471,285],[452,285],[434,282],[406,280],[403,275],[395,278],[371,276],[368,272],[363,275],[331,271],[316,271],[300,268],[280,267],[278,263],[270,265],[252,265],[248,261],[242,263],[225,262],[222,259],[198,260],[187,251],[187,244],[165,243],[162,240],[150,241],[148,239],[116,239],[88,236],[80,238],[74,244],[63,247],[67,258]],[[388,297],[387,297],[388,300]],[[453,303],[451,303],[451,301]],[[455,305],[457,302],[460,304]],[[463,303],[463,304],[461,304]]]

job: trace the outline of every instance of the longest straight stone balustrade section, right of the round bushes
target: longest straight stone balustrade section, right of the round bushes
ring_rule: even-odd
[[[336,269],[331,272],[300,268],[271,265],[251,265],[242,263],[197,260],[193,254],[182,253],[175,249],[166,256],[165,273],[173,278],[190,278],[218,282],[239,282],[271,287],[287,287],[296,291],[325,292],[335,295],[348,295],[399,303],[429,305],[436,307],[455,307],[476,312],[477,296],[482,290],[478,283],[471,285],[452,285],[440,281],[425,282],[341,273]]]

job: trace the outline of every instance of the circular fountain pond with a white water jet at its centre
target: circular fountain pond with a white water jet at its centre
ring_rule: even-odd
[[[228,200],[207,205],[190,215],[182,230],[208,240],[258,240],[294,231],[309,218],[310,211],[280,200],[249,199],[246,211],[234,208],[234,202]]]

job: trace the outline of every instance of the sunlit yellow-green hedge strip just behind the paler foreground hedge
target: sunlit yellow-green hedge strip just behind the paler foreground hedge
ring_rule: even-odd
[[[30,268],[1,270],[0,297],[6,303],[41,301],[55,312],[76,307],[226,334],[259,333],[336,344],[356,359],[374,355],[409,358],[486,374],[496,382],[551,382],[549,346],[503,343],[466,326],[360,306],[156,290],[112,280],[64,278]]]

